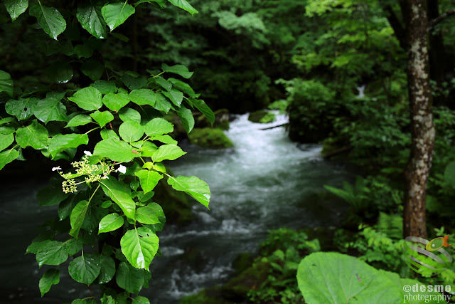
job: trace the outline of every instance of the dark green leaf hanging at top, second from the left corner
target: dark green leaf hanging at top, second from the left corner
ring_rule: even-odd
[[[50,38],[57,40],[57,36],[65,31],[65,19],[54,7],[42,6],[38,2],[30,8],[30,14],[38,19],[38,23]]]

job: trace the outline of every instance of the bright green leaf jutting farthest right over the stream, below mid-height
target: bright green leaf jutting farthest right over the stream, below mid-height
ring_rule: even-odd
[[[169,177],[168,184],[177,191],[186,192],[186,194],[199,201],[208,209],[208,202],[210,201],[210,189],[208,184],[201,181],[197,177]]]

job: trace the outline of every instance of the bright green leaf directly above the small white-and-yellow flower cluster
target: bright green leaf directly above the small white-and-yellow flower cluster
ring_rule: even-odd
[[[133,147],[127,142],[102,140],[95,146],[93,154],[107,157],[115,162],[131,162],[139,154],[132,152]]]

